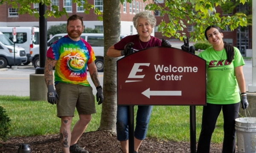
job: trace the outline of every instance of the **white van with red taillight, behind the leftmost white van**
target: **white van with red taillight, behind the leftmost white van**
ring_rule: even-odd
[[[34,41],[32,41],[32,28],[34,28]],[[6,35],[13,42],[12,35],[13,27],[0,27],[0,31]],[[16,27],[16,38],[17,41],[15,45],[18,45],[25,49],[27,62],[23,63],[24,65],[28,65],[30,62],[30,50],[33,47],[39,46],[39,28],[38,27]]]

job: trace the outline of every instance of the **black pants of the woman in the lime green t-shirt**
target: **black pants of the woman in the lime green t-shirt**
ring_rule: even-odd
[[[209,104],[203,108],[202,129],[198,140],[197,153],[209,153],[212,133],[218,119],[223,112],[224,117],[224,141],[222,153],[235,153],[236,130],[235,119],[238,118],[240,102],[228,105]]]

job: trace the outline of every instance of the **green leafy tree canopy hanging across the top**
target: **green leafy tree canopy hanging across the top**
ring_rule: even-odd
[[[126,0],[131,3],[132,0]],[[143,0],[144,2],[146,0]],[[194,31],[190,32],[191,39],[193,41],[204,40],[204,29],[210,25],[216,25],[221,28],[227,26],[231,30],[236,29],[239,26],[247,26],[246,14],[238,12],[232,16],[220,17],[219,13],[216,13],[215,7],[222,4],[229,3],[227,7],[232,8],[235,0],[164,0],[164,3],[159,3],[158,0],[152,0],[145,6],[145,9],[160,12],[160,16],[163,17],[161,23],[158,25],[158,31],[161,31],[163,36],[183,39],[184,28],[187,28],[184,23],[193,25]],[[124,0],[120,0],[121,4]],[[236,0],[236,4],[246,3],[249,0]],[[63,11],[59,11],[58,6],[50,5],[50,0],[1,0],[1,4],[12,5],[13,8],[18,8],[18,14],[30,14],[35,17],[39,17],[39,14],[35,8],[32,8],[33,3],[43,3],[48,9],[44,14],[44,17],[61,17],[67,16],[65,8]],[[88,3],[87,0],[72,0],[72,3],[78,3],[78,6],[83,6],[84,13],[88,14],[90,9],[94,9],[94,6]],[[232,3],[232,4],[230,4]],[[19,5],[19,7],[18,7]],[[227,10],[227,9],[226,9]],[[228,9],[229,10],[229,9]],[[227,11],[228,11],[227,10]],[[94,9],[94,13],[98,15],[98,20],[102,20],[102,12],[99,9]],[[68,16],[67,16],[68,17]]]

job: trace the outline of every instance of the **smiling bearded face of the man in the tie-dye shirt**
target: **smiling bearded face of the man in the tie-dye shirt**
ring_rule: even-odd
[[[80,36],[84,31],[81,20],[70,20],[67,25],[67,34],[74,41],[80,40]]]

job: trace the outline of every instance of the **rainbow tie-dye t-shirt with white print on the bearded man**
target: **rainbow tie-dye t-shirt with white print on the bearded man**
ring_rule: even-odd
[[[87,64],[96,58],[92,47],[82,38],[71,40],[68,35],[55,41],[47,51],[47,57],[58,60],[54,81],[90,86],[87,81]]]

